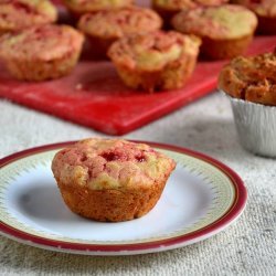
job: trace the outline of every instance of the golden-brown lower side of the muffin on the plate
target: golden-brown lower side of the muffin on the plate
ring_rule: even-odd
[[[62,197],[72,210],[96,221],[129,221],[147,214],[159,200],[167,179],[137,190],[91,190],[59,183]]]

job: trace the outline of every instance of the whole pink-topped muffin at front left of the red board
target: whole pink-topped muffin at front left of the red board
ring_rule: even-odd
[[[40,25],[0,38],[0,59],[22,81],[67,75],[79,56],[83,34],[67,25]]]

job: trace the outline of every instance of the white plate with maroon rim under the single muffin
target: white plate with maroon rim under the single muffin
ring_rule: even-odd
[[[204,240],[243,211],[246,190],[231,169],[188,149],[148,142],[178,166],[161,199],[141,219],[103,223],[64,204],[51,171],[71,142],[29,149],[0,161],[0,231],[19,242],[87,255],[130,255],[177,248]]]

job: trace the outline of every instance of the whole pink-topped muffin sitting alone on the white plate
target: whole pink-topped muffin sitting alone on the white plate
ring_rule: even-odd
[[[176,162],[145,144],[91,138],[59,151],[52,170],[72,212],[120,222],[147,214]]]

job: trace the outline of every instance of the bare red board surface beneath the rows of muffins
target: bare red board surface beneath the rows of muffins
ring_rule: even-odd
[[[256,38],[248,54],[270,51],[275,44],[276,36]],[[200,62],[184,88],[147,94],[126,88],[109,62],[81,61],[71,75],[42,83],[15,81],[0,64],[0,97],[105,134],[124,135],[212,92],[222,65]]]

